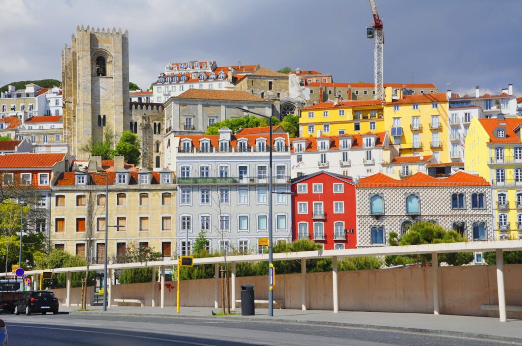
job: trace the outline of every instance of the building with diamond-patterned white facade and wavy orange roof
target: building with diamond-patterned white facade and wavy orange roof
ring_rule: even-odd
[[[376,174],[362,178],[357,190],[357,246],[385,246],[416,221],[432,221],[469,241],[493,239],[490,183],[457,172],[447,178],[417,173],[403,180]]]

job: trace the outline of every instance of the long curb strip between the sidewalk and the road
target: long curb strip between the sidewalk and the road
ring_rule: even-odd
[[[193,316],[193,315],[156,315],[156,314],[122,314],[122,313],[108,313],[108,312],[69,312],[71,315],[98,315],[98,316],[120,316],[120,317],[156,317],[156,318],[192,318],[192,319],[212,319],[219,318],[220,320],[230,321],[230,322],[256,322],[256,323],[283,323],[283,324],[300,324],[303,323],[316,325],[316,326],[331,326],[331,327],[349,327],[349,328],[359,328],[359,329],[369,329],[369,330],[379,330],[379,331],[394,331],[394,332],[405,332],[405,333],[418,333],[418,334],[428,334],[428,335],[437,335],[437,336],[446,336],[446,337],[456,337],[456,338],[468,338],[468,339],[478,339],[478,340],[488,340],[488,341],[496,341],[496,342],[509,342],[515,344],[522,345],[522,337],[521,338],[512,338],[512,337],[503,337],[491,334],[479,334],[479,333],[469,333],[469,332],[459,332],[459,331],[450,331],[450,330],[440,330],[440,329],[423,329],[423,328],[410,328],[410,327],[394,327],[394,326],[379,326],[379,325],[367,325],[367,324],[358,324],[358,323],[347,323],[347,322],[326,322],[326,321],[314,321],[314,320],[298,320],[298,319],[264,319],[264,318],[256,318],[256,317],[227,317],[227,316]]]

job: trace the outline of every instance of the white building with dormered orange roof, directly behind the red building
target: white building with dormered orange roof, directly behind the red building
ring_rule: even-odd
[[[382,171],[390,160],[388,132],[300,137],[292,143],[292,178],[318,170],[353,178]]]

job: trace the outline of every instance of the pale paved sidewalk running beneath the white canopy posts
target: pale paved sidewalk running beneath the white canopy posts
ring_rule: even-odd
[[[497,317],[472,317],[453,315],[431,315],[410,313],[382,313],[382,312],[355,312],[341,311],[334,314],[323,310],[274,310],[274,317],[268,316],[268,310],[258,308],[255,316],[241,316],[241,309],[236,309],[239,315],[212,317],[211,311],[221,312],[221,309],[209,307],[180,308],[176,314],[175,307],[134,307],[114,306],[106,313],[101,306],[91,306],[96,311],[74,312],[77,306],[61,306],[60,311],[72,314],[111,314],[120,316],[147,316],[147,317],[192,317],[192,318],[220,318],[242,320],[270,320],[270,322],[318,324],[330,326],[350,326],[359,328],[375,328],[381,330],[408,331],[435,333],[438,335],[489,339],[498,341],[512,341],[522,343],[522,320],[512,319],[501,323]]]

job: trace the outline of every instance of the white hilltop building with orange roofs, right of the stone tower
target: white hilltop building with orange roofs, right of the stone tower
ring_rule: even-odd
[[[151,102],[164,103],[189,89],[234,90],[234,83],[259,65],[221,66],[216,61],[169,63],[153,85]]]

